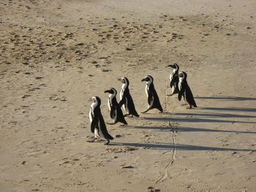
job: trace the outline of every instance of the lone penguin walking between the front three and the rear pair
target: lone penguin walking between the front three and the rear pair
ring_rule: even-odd
[[[162,106],[159,101],[159,97],[157,95],[157,91],[154,89],[154,84],[153,84],[153,77],[150,75],[147,75],[144,77],[141,82],[146,81],[146,96],[148,98],[148,109],[145,112],[148,112],[148,110],[156,108],[160,112],[162,112]],[[144,113],[144,112],[143,112]]]

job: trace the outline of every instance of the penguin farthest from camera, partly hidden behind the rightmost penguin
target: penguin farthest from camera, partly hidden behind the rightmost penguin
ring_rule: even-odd
[[[178,69],[179,66],[178,64],[172,64],[172,65],[168,65],[166,67],[172,67],[173,68],[173,72],[171,72],[170,74],[170,88],[172,89],[170,95],[167,96],[173,96],[174,94],[178,93]]]

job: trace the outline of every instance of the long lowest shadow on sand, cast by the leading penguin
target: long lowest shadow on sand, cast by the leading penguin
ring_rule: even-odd
[[[252,149],[236,149],[236,148],[227,148],[227,147],[206,147],[198,145],[172,145],[167,143],[133,143],[133,142],[111,142],[111,146],[121,146],[121,147],[145,147],[151,150],[218,150],[218,151],[256,151]]]

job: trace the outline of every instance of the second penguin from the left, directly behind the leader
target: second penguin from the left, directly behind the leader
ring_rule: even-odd
[[[104,91],[104,93],[110,93],[110,95],[108,96],[108,109],[110,111],[110,118],[114,120],[113,123],[108,124],[113,125],[117,122],[121,122],[124,123],[124,125],[128,125],[127,121],[124,119],[121,107],[116,101],[116,89],[110,88],[109,90]]]

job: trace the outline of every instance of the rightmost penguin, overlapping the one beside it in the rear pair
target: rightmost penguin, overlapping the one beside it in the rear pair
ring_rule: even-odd
[[[180,72],[178,73],[178,100],[181,101],[181,96],[183,96],[184,101],[186,101],[189,104],[189,109],[193,107],[197,107],[197,104],[195,104],[195,99],[192,94],[191,89],[189,88],[189,85],[187,84],[187,73],[186,72]]]

